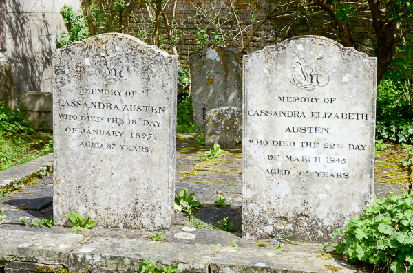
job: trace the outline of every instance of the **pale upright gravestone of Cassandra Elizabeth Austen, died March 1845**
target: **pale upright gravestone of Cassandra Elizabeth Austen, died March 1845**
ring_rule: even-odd
[[[373,195],[377,60],[321,36],[244,56],[243,237],[328,241]]]

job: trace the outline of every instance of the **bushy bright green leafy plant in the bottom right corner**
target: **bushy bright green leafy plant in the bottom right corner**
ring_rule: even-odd
[[[363,215],[333,232],[332,239],[341,242],[326,243],[336,252],[349,257],[351,262],[363,261],[376,267],[390,266],[394,273],[413,270],[413,195],[390,193],[377,199],[363,210]],[[378,271],[379,272],[379,271]]]

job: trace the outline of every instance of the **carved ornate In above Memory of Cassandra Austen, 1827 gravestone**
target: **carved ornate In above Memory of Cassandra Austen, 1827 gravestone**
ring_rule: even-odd
[[[104,56],[101,56],[103,61],[101,63],[102,68],[96,70],[96,75],[102,78],[105,83],[114,85],[118,80],[126,80],[129,78],[129,67],[122,65],[120,61],[107,61]]]

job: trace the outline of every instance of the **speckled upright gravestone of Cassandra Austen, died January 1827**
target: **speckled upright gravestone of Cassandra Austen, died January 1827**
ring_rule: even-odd
[[[177,59],[125,34],[54,52],[54,221],[173,223]]]

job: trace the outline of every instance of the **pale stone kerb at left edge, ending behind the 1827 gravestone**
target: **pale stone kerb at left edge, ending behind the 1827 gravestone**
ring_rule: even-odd
[[[36,160],[14,166],[6,171],[1,171],[0,186],[7,186],[12,180],[19,181],[21,178],[25,179],[25,177],[37,175],[40,171],[43,171],[42,168],[45,163],[53,164],[53,153],[39,157]]]

